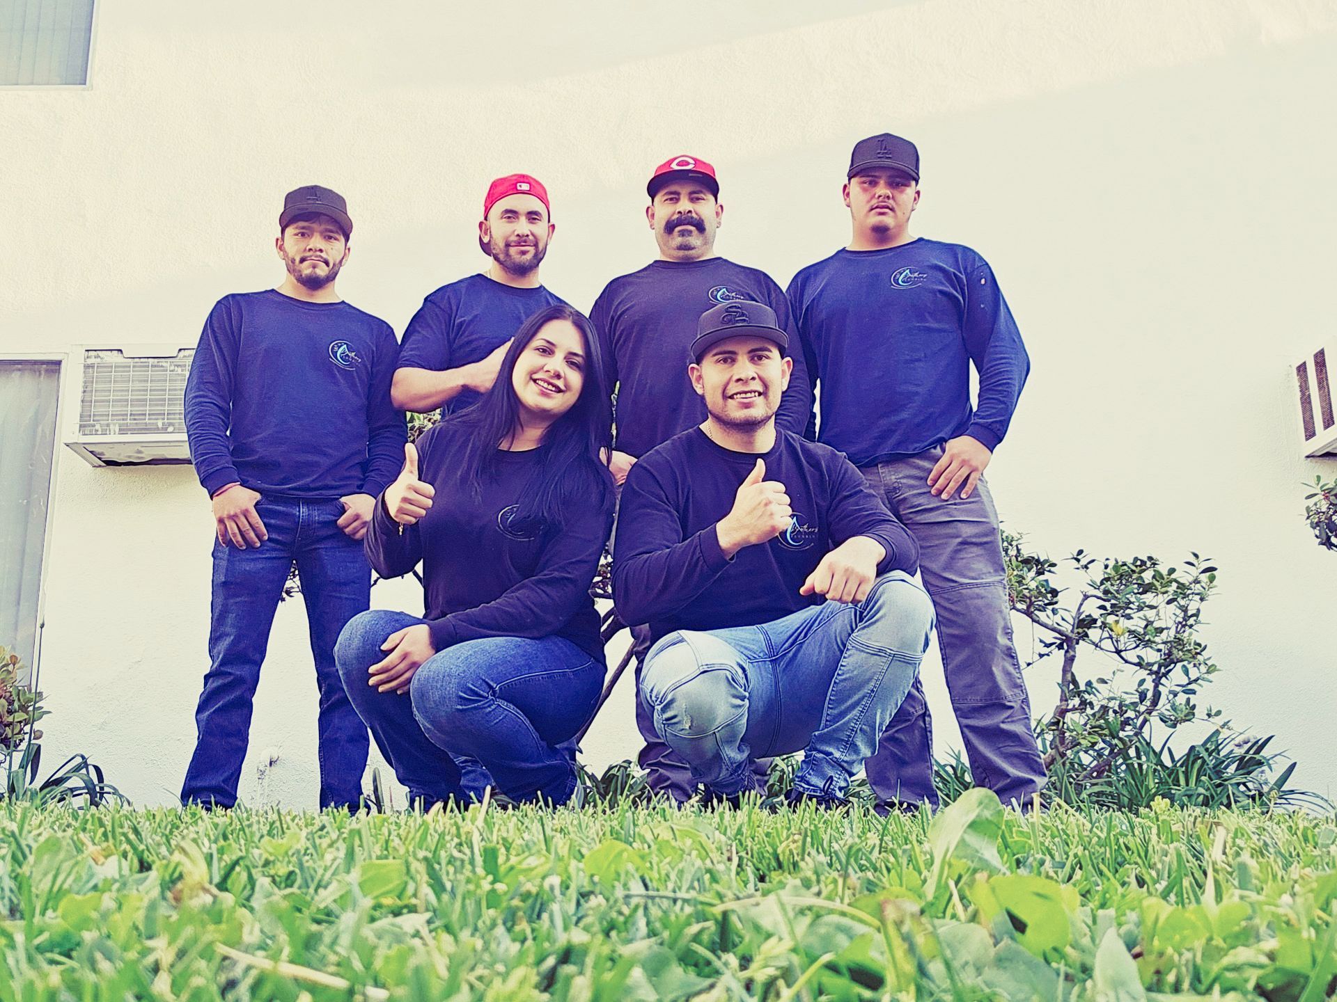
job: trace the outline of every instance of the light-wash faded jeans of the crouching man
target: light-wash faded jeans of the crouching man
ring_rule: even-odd
[[[747,786],[750,758],[802,751],[794,788],[844,796],[909,691],[932,629],[928,595],[893,570],[858,604],[668,633],[650,649],[640,697],[693,779],[719,794]]]

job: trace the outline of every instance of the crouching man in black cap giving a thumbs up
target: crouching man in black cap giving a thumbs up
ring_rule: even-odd
[[[933,609],[858,470],[777,428],[787,342],[761,303],[701,317],[707,417],[631,468],[614,595],[650,624],[640,701],[694,783],[733,800],[758,790],[754,758],[802,751],[794,794],[832,804],[909,691]]]

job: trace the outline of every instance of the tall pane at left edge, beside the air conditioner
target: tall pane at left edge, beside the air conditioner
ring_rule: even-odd
[[[59,362],[0,359],[0,645],[35,667]]]

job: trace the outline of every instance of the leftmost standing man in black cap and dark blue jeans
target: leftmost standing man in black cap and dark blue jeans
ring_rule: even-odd
[[[398,476],[404,415],[390,403],[398,346],[384,321],[334,291],[353,220],[312,184],[278,218],[278,289],[223,297],[186,381],[186,432],[214,502],[210,669],[182,803],[231,807],[274,609],[297,564],[320,689],[321,807],[356,808],[368,733],[334,667],[334,641],[366,611],[362,537]]]

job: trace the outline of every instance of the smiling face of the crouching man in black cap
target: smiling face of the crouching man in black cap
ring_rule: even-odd
[[[687,373],[711,418],[726,428],[754,430],[775,417],[793,367],[774,341],[739,334],[711,345]]]

